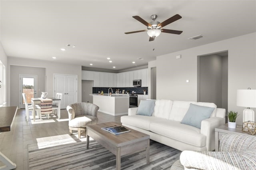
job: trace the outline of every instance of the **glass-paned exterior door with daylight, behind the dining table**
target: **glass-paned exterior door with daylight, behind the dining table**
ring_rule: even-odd
[[[37,75],[22,75],[20,74],[20,108],[25,108],[22,98],[22,93],[26,93],[28,103],[31,103],[31,98],[38,97],[37,95]]]

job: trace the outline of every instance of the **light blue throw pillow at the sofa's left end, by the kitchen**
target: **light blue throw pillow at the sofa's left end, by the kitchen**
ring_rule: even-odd
[[[155,100],[141,100],[136,115],[151,116],[154,106]]]

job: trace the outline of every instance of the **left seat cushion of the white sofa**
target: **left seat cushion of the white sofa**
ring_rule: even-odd
[[[142,128],[144,130],[149,130],[150,123],[154,122],[155,119],[160,119],[160,118],[156,118],[152,116],[133,115],[133,116],[122,116],[120,121],[121,123],[124,123],[127,125]]]

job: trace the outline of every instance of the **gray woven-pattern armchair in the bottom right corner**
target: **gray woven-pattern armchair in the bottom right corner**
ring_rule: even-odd
[[[226,134],[220,140],[219,152],[189,151],[180,154],[171,170],[255,170],[256,136]]]

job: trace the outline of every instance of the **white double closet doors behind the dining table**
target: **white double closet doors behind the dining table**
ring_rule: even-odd
[[[54,96],[62,93],[60,109],[77,102],[77,75],[54,75]]]

